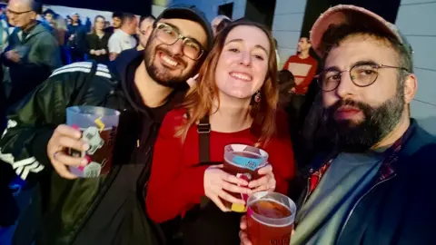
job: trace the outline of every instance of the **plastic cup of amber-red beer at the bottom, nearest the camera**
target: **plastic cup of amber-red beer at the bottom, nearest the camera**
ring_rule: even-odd
[[[277,192],[254,193],[247,201],[247,232],[253,245],[289,245],[295,212],[295,203]]]

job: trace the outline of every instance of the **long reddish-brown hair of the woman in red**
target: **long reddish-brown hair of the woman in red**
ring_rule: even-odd
[[[271,32],[263,25],[250,21],[240,20],[228,25],[220,32],[214,40],[212,51],[206,57],[197,84],[186,94],[183,108],[187,110],[188,117],[185,123],[176,131],[176,136],[185,139],[189,128],[203,119],[204,116],[213,114],[213,102],[218,100],[218,87],[215,83],[215,70],[227,35],[237,26],[254,26],[267,35],[270,43],[270,55],[268,58],[268,72],[265,82],[260,89],[261,101],[253,102],[250,107],[250,116],[253,118],[252,132],[259,143],[265,144],[275,133],[275,113],[278,102],[277,62],[275,55],[275,44]]]

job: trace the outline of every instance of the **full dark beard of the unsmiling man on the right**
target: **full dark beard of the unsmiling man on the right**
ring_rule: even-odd
[[[365,152],[377,142],[384,139],[400,122],[404,111],[403,90],[397,93],[379,107],[354,102],[339,101],[326,110],[326,129],[332,132],[332,142],[341,152]],[[362,111],[362,122],[355,124],[350,120],[336,121],[334,113],[343,105],[349,105]]]

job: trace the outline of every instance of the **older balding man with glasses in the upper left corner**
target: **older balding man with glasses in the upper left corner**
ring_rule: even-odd
[[[10,25],[15,25],[1,58],[9,67],[11,92],[6,106],[11,106],[61,66],[59,44],[44,25],[36,21],[41,5],[33,0],[11,0],[7,6]]]

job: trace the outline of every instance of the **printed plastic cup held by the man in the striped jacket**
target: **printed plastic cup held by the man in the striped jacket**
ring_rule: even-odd
[[[111,170],[114,140],[119,122],[118,111],[97,106],[73,106],[66,108],[66,124],[82,132],[82,141],[90,148],[84,152],[68,149],[74,157],[86,158],[88,164],[70,167],[80,178],[96,178]]]

